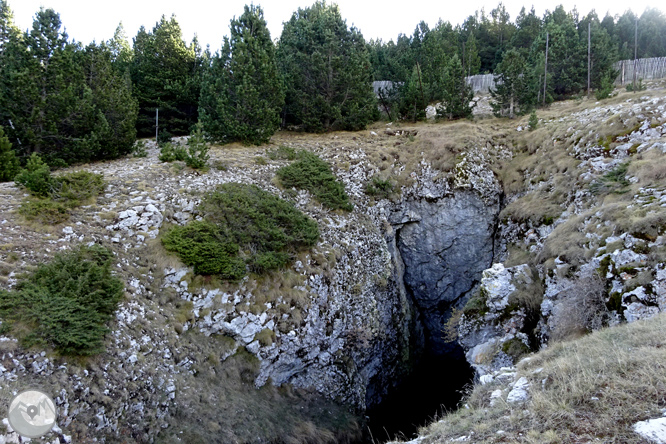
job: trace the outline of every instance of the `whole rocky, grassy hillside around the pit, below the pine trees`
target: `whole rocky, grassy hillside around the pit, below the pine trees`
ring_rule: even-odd
[[[38,264],[88,244],[113,253],[112,274],[124,288],[100,354],[28,347],[16,338],[34,326],[3,328],[0,399],[26,385],[48,390],[60,409],[52,438],[72,442],[362,442],[366,409],[426,357],[458,353],[456,340],[493,382],[472,392],[469,410],[425,429],[421,442],[472,430],[487,442],[641,442],[627,430],[659,416],[658,395],[604,428],[619,418],[611,407],[663,389],[659,343],[635,345],[662,318],[556,344],[666,306],[664,91],[655,83],[601,102],[557,102],[538,112],[534,131],[524,116],[279,132],[259,147],[213,146],[204,171],[160,162],[148,142],[145,158],[54,173],[85,170],[106,183],[60,222],[27,220],[25,190],[0,184],[1,289],[13,291]],[[331,165],[351,211],[282,185],[277,171],[300,150]],[[202,201],[230,183],[292,203],[316,222],[316,244],[277,271],[250,270],[237,281],[195,274],[161,241],[173,227],[203,220]],[[651,385],[615,390],[620,379],[609,373],[581,380],[563,398],[562,372],[575,363],[584,378],[602,366],[595,356],[603,362],[614,335],[617,371],[643,381],[649,361]],[[517,374],[536,387],[543,367],[553,384],[532,389],[530,404],[506,403],[502,392],[489,408],[497,381],[514,378],[506,368],[546,345]],[[595,392],[599,383],[607,391]],[[581,401],[592,397],[610,409],[606,416]],[[568,416],[541,421],[553,399]],[[595,418],[581,423],[577,415]]]

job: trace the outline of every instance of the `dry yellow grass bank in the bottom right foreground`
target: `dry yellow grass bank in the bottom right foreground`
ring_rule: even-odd
[[[496,383],[477,386],[460,409],[421,431],[423,444],[644,443],[631,426],[666,404],[666,315],[551,344],[518,365],[531,383],[526,405],[490,406]],[[498,433],[503,431],[503,433]]]

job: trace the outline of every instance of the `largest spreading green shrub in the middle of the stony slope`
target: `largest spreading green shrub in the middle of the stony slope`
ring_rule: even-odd
[[[319,239],[315,221],[255,185],[230,183],[204,196],[204,220],[175,227],[162,238],[196,274],[237,280],[284,267]]]

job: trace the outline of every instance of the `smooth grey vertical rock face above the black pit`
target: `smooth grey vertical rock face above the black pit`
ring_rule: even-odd
[[[448,351],[443,331],[451,308],[463,302],[492,264],[498,214],[498,201],[456,190],[434,201],[406,201],[393,215],[405,286],[433,353]]]

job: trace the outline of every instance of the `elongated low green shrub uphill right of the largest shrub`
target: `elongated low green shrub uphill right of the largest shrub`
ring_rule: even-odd
[[[277,171],[283,186],[307,190],[333,210],[351,211],[354,208],[345,187],[335,178],[326,162],[308,151],[299,152],[298,157],[298,161]]]

